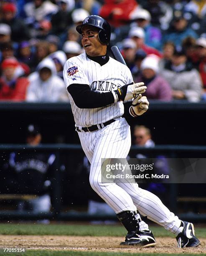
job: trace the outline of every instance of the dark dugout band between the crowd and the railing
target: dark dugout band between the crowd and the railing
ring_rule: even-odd
[[[128,114],[129,106],[125,104],[125,118],[131,132],[140,124],[150,128],[158,145],[206,145],[206,102],[151,100],[147,113],[138,118]],[[79,143],[69,103],[0,102],[0,120],[0,143],[24,143],[30,123],[41,128],[42,143]]]

